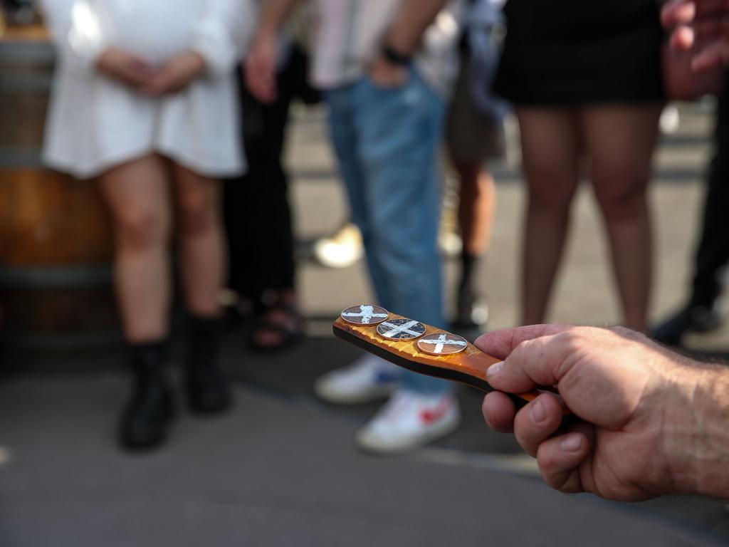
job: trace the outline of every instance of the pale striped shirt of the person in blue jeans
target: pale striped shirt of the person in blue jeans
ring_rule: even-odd
[[[455,76],[460,4],[460,0],[451,1],[437,15],[415,56],[424,77],[443,93]],[[316,0],[313,84],[332,89],[362,77],[380,52],[401,6],[402,0]]]

